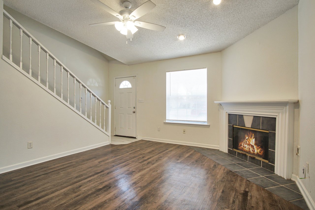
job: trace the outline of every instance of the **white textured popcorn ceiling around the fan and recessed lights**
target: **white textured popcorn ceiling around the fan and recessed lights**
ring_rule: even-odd
[[[115,11],[123,0],[100,0]],[[134,10],[146,0],[130,0]],[[157,6],[139,21],[165,26],[140,28],[132,42],[115,26],[119,20],[89,0],[4,0],[4,4],[127,65],[219,52],[282,15],[299,0],[152,0]],[[176,37],[185,34],[183,41]]]

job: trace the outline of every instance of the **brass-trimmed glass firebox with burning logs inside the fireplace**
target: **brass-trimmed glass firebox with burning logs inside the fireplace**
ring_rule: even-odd
[[[233,125],[233,150],[268,161],[269,131]]]

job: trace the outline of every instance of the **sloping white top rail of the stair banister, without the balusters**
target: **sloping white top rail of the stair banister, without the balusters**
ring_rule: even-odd
[[[23,32],[27,35],[27,37],[32,38],[32,41],[33,41],[35,44],[40,45],[41,49],[43,49],[43,50],[44,50],[46,53],[48,53],[52,58],[54,58],[54,60],[56,60],[56,62],[57,62],[60,66],[62,66],[63,69],[65,69],[67,72],[69,72],[70,75],[71,75],[72,77],[76,78],[76,80],[77,80],[78,82],[80,82],[84,88],[88,89],[89,92],[92,93],[92,95],[93,95],[94,97],[96,97],[99,101],[102,102],[102,104],[104,104],[107,108],[109,108],[109,106],[108,106],[100,97],[98,97],[91,89],[89,89],[88,86],[86,86],[79,78],[77,78],[77,76],[74,75],[74,73],[72,73],[72,72],[71,72],[61,61],[59,61],[47,48],[45,48],[45,47],[43,46],[43,44],[41,44],[35,37],[33,37],[33,35],[31,35],[30,32],[28,32],[23,26],[21,26],[20,23],[18,23],[18,22],[17,22],[7,11],[5,11],[4,9],[3,9],[3,15],[6,16],[9,20],[12,20],[12,22],[14,23],[14,25],[15,25],[16,27],[18,27],[19,29],[22,29]]]

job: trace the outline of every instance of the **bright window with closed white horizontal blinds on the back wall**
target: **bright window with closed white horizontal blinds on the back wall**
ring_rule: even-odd
[[[166,73],[166,122],[207,124],[207,69]]]

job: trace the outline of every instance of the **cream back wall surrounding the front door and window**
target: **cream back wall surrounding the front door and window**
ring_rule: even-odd
[[[210,127],[164,125],[166,119],[166,72],[207,67],[208,123]],[[167,139],[204,146],[219,145],[219,107],[214,101],[221,98],[221,53],[196,55],[127,66],[109,63],[109,98],[114,99],[114,78],[137,74],[137,135],[139,137]],[[113,103],[112,103],[113,104]],[[113,109],[114,110],[114,109]],[[114,113],[112,112],[112,116]],[[112,117],[112,119],[114,119]],[[113,120],[112,120],[113,123]],[[160,131],[157,131],[160,127]],[[114,132],[112,124],[112,133]],[[186,129],[186,134],[183,134]],[[210,146],[209,146],[210,147]]]

